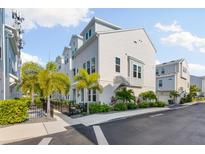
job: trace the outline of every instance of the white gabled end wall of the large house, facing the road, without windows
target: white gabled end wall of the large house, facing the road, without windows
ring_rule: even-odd
[[[140,42],[141,40],[142,42]],[[136,41],[137,43],[134,43]],[[149,56],[147,56],[149,55]],[[100,100],[110,102],[114,95],[115,76],[128,78],[128,56],[145,63],[142,88],[134,87],[135,95],[146,90],[155,91],[155,51],[143,29],[99,35],[99,72],[105,87]],[[121,72],[115,72],[115,57],[121,59]]]

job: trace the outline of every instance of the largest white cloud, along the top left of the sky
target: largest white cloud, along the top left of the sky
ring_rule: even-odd
[[[81,21],[87,22],[89,15],[93,13],[89,9],[17,9],[25,18],[23,28],[30,30],[37,26],[51,28],[54,26],[70,27],[77,26]],[[7,16],[11,16],[11,9],[7,10]],[[8,18],[8,23],[11,23],[11,18]]]

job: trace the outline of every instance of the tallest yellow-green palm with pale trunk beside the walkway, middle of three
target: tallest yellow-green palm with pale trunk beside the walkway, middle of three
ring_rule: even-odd
[[[55,63],[49,62],[46,69],[39,73],[38,82],[43,96],[47,98],[47,117],[50,118],[50,97],[55,92],[67,94],[70,88],[70,78],[64,73],[56,72]]]

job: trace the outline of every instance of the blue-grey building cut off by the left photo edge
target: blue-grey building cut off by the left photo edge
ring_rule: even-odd
[[[0,9],[0,100],[18,97],[17,82],[20,79],[20,35],[5,24],[4,9]]]

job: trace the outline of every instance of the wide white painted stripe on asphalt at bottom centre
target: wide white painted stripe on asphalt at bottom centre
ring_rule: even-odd
[[[108,145],[108,142],[100,128],[100,126],[93,126],[95,136],[99,145]]]

